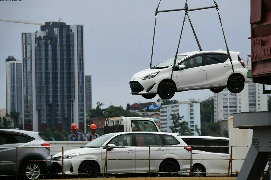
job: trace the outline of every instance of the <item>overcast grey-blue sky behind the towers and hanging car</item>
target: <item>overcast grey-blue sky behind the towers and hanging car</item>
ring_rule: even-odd
[[[159,0],[22,0],[1,1],[0,19],[45,23],[61,18],[68,25],[84,25],[85,75],[92,75],[92,108],[96,102],[123,106],[159,98],[144,99],[129,94],[129,81],[136,72],[149,68],[154,29],[154,12]],[[213,6],[212,0],[187,0],[188,8]],[[216,0],[230,51],[241,52],[247,60],[250,51],[250,1]],[[159,10],[179,9],[184,0],[161,0]],[[176,53],[183,11],[158,14],[153,65]],[[203,50],[226,50],[215,8],[189,12]],[[40,30],[39,25],[0,21],[0,109],[6,108],[5,59],[13,55],[22,60],[21,33]],[[197,51],[198,46],[188,20],[179,53]],[[176,93],[172,99],[204,100],[210,90]]]

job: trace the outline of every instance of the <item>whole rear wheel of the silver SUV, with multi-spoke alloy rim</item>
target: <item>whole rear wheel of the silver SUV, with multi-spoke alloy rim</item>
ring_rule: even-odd
[[[25,162],[22,172],[24,179],[41,179],[41,174],[44,174],[41,163],[37,161]]]

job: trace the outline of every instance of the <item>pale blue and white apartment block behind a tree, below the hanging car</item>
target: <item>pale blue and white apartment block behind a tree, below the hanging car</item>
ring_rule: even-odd
[[[188,127],[193,135],[198,135],[195,131],[195,125],[201,129],[201,110],[200,103],[196,103],[195,99],[189,99],[188,102],[180,102],[178,104],[163,105],[160,108],[160,130],[161,132],[172,132],[171,114],[179,113],[182,121],[188,122]]]

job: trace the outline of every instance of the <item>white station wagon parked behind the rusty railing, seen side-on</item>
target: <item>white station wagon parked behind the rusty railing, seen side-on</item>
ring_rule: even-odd
[[[102,135],[86,144],[86,146],[106,145],[110,146],[107,159],[114,159],[107,161],[107,172],[114,173],[115,177],[121,177],[122,173],[133,173],[129,174],[130,176],[138,176],[138,173],[146,175],[148,173],[148,147],[146,146],[153,146],[150,147],[150,158],[153,159],[150,160],[152,176],[156,176],[158,172],[164,172],[160,173],[160,176],[174,177],[178,172],[190,169],[190,147],[177,147],[186,146],[186,144],[173,133],[111,133]],[[95,178],[99,173],[104,172],[105,160],[101,159],[105,159],[105,147],[86,146],[64,151],[64,174],[85,173],[79,174],[80,177]],[[50,173],[61,175],[62,152],[52,156],[52,160],[53,168]]]

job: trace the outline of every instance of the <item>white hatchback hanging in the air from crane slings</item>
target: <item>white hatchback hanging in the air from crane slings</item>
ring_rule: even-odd
[[[173,56],[150,69],[134,74],[129,83],[130,93],[142,95],[146,99],[154,98],[156,94],[162,99],[170,99],[175,92],[197,89],[210,89],[219,93],[226,87],[231,93],[240,93],[249,78],[239,53],[230,52],[231,64],[226,51],[186,52],[177,55],[174,68]]]

